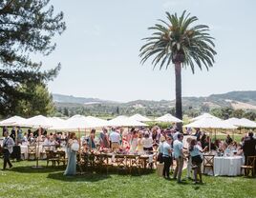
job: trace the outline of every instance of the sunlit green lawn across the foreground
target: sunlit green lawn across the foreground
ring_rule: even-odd
[[[34,161],[16,162],[11,170],[0,170],[0,197],[256,197],[255,178],[203,176],[203,185],[179,185],[155,172],[65,177],[63,168],[32,169],[33,165]]]

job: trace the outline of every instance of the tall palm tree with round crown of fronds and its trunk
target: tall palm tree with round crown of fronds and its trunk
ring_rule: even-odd
[[[186,14],[184,10],[181,17],[177,13],[166,12],[168,22],[159,20],[161,24],[156,24],[148,30],[154,30],[150,37],[144,38],[146,44],[141,47],[139,56],[141,64],[153,57],[154,69],[157,65],[165,67],[170,64],[175,67],[176,80],[176,117],[182,119],[181,105],[181,67],[189,66],[195,72],[195,65],[200,69],[203,66],[208,70],[213,66],[214,38],[208,33],[209,28],[205,25],[192,24],[198,21],[196,16]]]

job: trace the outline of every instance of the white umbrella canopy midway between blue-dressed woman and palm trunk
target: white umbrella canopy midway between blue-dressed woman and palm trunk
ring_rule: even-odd
[[[137,120],[134,120],[130,117],[120,115],[108,121],[108,126],[109,127],[145,127],[147,125]]]

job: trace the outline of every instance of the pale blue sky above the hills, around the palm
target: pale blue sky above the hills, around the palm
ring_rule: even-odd
[[[215,37],[216,63],[209,71],[182,70],[182,95],[207,96],[256,89],[256,1],[253,0],[52,0],[63,10],[67,30],[54,39],[43,69],[62,69],[49,83],[53,93],[115,101],[175,98],[174,68],[139,64],[141,38],[170,13],[188,10]]]

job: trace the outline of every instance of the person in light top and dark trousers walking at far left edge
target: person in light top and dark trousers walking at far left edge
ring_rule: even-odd
[[[4,148],[4,167],[3,170],[7,168],[7,164],[10,168],[12,168],[11,162],[10,162],[10,155],[14,147],[14,141],[9,136],[9,131],[6,130],[4,132],[5,139],[3,141],[3,148]]]

